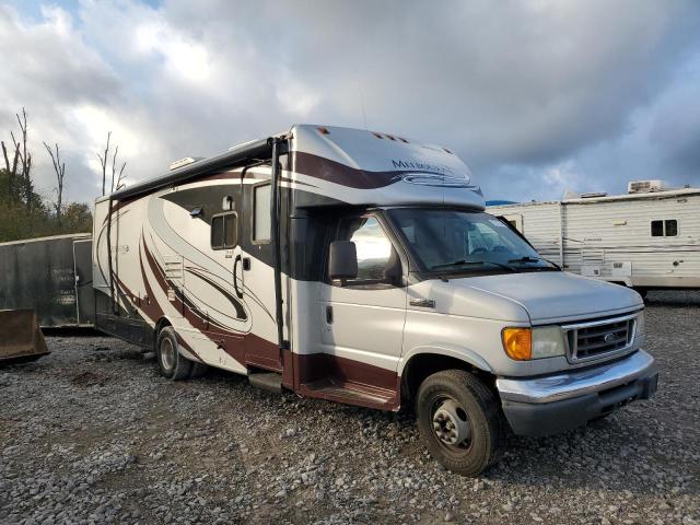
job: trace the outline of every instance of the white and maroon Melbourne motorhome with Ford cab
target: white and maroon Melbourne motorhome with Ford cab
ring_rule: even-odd
[[[164,376],[382,410],[476,475],[656,389],[643,303],[539,258],[450,150],[325,126],[184,160],[97,200],[96,325]]]

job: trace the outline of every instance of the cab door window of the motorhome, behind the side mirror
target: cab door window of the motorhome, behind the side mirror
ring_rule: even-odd
[[[374,217],[346,219],[340,223],[339,241],[352,241],[358,253],[358,280],[385,278],[392,243]]]

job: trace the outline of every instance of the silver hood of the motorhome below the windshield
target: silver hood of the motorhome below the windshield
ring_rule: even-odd
[[[633,290],[565,271],[482,276],[450,283],[515,302],[527,311],[533,324],[597,317],[644,306]]]

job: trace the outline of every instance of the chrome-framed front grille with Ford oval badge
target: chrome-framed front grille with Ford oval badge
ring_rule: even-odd
[[[585,361],[629,348],[634,340],[635,316],[603,319],[563,327],[572,361]]]

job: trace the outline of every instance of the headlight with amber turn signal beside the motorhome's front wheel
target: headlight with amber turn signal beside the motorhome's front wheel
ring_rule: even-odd
[[[567,353],[563,332],[559,326],[504,328],[502,337],[505,353],[516,361],[553,358]]]

